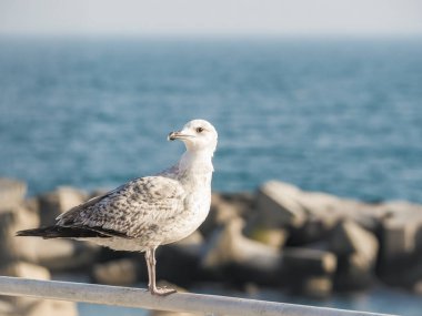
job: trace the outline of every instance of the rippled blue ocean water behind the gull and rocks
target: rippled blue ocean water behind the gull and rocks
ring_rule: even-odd
[[[214,191],[422,203],[422,39],[0,39],[0,175],[31,195],[159,172],[197,118],[219,131]]]

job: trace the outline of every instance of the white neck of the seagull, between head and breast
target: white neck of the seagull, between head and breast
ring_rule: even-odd
[[[212,173],[212,153],[208,151],[185,151],[179,162],[180,171],[194,171],[195,174]]]

